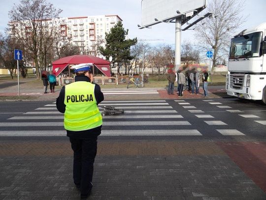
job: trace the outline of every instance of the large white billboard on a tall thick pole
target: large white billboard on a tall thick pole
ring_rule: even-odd
[[[212,13],[200,16],[185,29],[181,26],[206,8],[206,0],[141,0],[141,26],[150,28],[159,23],[175,23],[175,69],[181,64],[181,30],[197,24]]]

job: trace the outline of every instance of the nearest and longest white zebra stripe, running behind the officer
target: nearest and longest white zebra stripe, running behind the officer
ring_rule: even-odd
[[[66,136],[65,130],[49,131],[1,131],[0,137]],[[101,130],[104,136],[202,136],[198,130]]]

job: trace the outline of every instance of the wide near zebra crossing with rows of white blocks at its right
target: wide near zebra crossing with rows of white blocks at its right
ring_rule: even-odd
[[[221,110],[230,106],[214,100],[199,100]],[[214,132],[223,136],[245,136],[237,129],[225,129],[229,124],[217,119],[203,109],[198,110],[193,102],[188,100],[131,100],[103,101],[99,104],[100,112],[103,106],[114,106],[125,109],[124,114],[103,116],[101,137],[104,136],[204,136],[189,116],[194,116],[208,127],[215,127]],[[230,107],[231,108],[231,107]],[[182,111],[182,114],[181,114]],[[254,118],[254,122],[266,125],[266,120],[254,114],[244,114],[240,110],[223,110],[239,113],[239,117]],[[184,117],[183,113],[186,113]],[[66,136],[64,130],[64,115],[56,109],[55,102],[26,113],[17,113],[5,122],[0,122],[1,136]],[[221,128],[220,128],[221,127]]]

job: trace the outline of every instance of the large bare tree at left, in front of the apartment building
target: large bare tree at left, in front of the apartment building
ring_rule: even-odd
[[[9,11],[9,32],[34,59],[37,78],[40,78],[44,56],[49,48],[47,44],[51,43],[56,32],[55,22],[61,12],[46,0],[21,0]]]

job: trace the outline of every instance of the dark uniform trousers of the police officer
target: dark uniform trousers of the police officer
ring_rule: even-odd
[[[69,137],[74,151],[73,179],[80,186],[81,195],[87,195],[92,189],[94,160],[97,154],[98,136],[89,139],[75,139]]]

